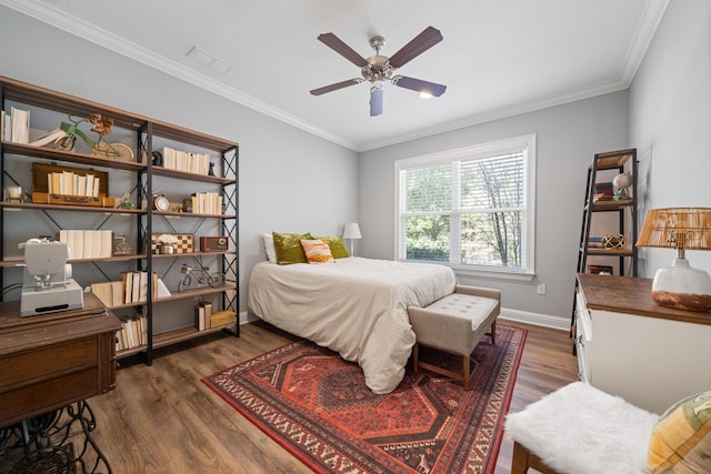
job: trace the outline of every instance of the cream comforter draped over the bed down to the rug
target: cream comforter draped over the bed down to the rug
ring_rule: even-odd
[[[427,306],[452,293],[455,283],[450,268],[428,263],[260,262],[250,276],[248,306],[268,323],[358,362],[368,387],[388,393],[404,376],[414,345],[408,306]]]

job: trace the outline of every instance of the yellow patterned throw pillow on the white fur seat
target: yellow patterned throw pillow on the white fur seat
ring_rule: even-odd
[[[667,410],[652,430],[647,464],[648,473],[711,473],[711,392]]]

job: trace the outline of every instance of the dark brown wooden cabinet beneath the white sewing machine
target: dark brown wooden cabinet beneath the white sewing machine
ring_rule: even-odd
[[[0,427],[116,387],[120,321],[91,293],[81,310],[20,317],[0,303]]]

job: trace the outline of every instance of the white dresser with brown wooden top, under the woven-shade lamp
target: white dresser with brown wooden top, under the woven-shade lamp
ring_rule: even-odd
[[[578,282],[580,380],[658,414],[711,390],[711,313],[659,306],[649,279],[579,273]]]

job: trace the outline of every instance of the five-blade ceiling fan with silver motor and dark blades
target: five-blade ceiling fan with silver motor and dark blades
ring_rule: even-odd
[[[385,40],[382,37],[373,37],[370,39],[370,46],[375,50],[375,56],[371,56],[368,59],[353,51],[351,47],[346,44],[333,33],[321,33],[319,34],[318,40],[351,61],[353,64],[361,68],[362,79],[349,79],[347,81],[313,89],[311,91],[311,94],[313,95],[321,95],[349,85],[356,85],[363,81],[369,81],[372,84],[370,88],[370,115],[375,117],[382,113],[382,84],[384,81],[390,81],[400,88],[420,92],[421,95],[440,97],[447,90],[447,85],[434,82],[408,78],[407,75],[392,75],[395,69],[401,68],[428,49],[432,48],[434,44],[442,41],[442,33],[435,28],[425,28],[424,31],[414,37],[409,43],[402,47],[390,58],[387,56],[380,56],[380,50],[385,46]]]

